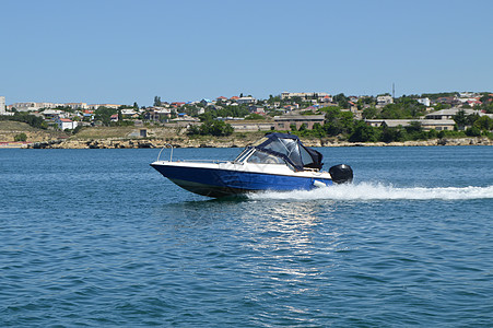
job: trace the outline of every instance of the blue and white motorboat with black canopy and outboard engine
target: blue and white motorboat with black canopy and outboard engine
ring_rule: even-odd
[[[233,161],[174,161],[173,148],[169,161],[162,161],[164,149],[151,166],[179,187],[213,198],[266,190],[312,190],[353,179],[352,168],[345,164],[322,171],[321,153],[287,133],[269,133]]]

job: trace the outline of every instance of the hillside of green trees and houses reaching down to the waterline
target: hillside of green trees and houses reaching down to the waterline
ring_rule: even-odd
[[[290,132],[305,140],[332,140],[334,142],[406,142],[426,141],[445,138],[489,138],[493,140],[493,118],[484,114],[493,113],[493,94],[456,92],[403,95],[392,98],[389,94],[378,96],[347,96],[337,94],[330,99],[313,93],[309,96],[272,96],[255,99],[251,96],[216,101],[202,99],[192,103],[166,103],[154,98],[154,106],[133,105],[99,106],[94,110],[74,109],[69,106],[57,107],[63,118],[70,117],[78,125],[74,129],[61,131],[56,117],[49,118],[48,108],[35,114],[16,112],[11,116],[0,116],[0,141],[38,142],[46,140],[71,140],[89,142],[92,140],[161,140],[176,144],[213,143],[213,140],[227,140],[227,144],[243,144],[250,136],[275,131],[277,117],[318,116],[322,122],[312,124],[309,128],[294,125],[281,132]],[[427,99],[425,105],[423,97]],[[466,97],[466,98],[465,98]],[[239,102],[240,99],[247,102]],[[387,103],[383,103],[386,99]],[[108,105],[109,106],[109,105]],[[424,115],[455,107],[453,129],[424,129],[421,125]],[[457,110],[459,108],[459,110]],[[471,110],[471,109],[474,110]],[[469,110],[469,112],[466,112]],[[52,110],[51,110],[52,112]],[[473,113],[473,114],[470,114]],[[479,113],[479,114],[478,114]],[[378,124],[369,124],[377,120]],[[388,126],[388,120],[402,120],[400,126]],[[238,124],[239,122],[239,124]],[[259,133],[235,130],[233,125],[263,124]],[[267,127],[267,129],[266,129]],[[144,136],[141,130],[145,130]],[[189,142],[188,142],[189,141]],[[187,143],[188,142],[188,143]]]

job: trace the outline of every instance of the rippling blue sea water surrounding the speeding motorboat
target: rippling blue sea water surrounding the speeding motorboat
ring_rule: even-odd
[[[493,326],[493,148],[318,150],[354,184],[227,200],[159,150],[0,150],[0,326]]]

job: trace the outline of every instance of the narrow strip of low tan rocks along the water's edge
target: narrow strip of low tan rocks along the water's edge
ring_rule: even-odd
[[[493,140],[488,138],[458,138],[458,139],[431,139],[423,141],[404,142],[348,142],[337,139],[302,139],[308,147],[431,147],[431,145],[493,145]],[[179,139],[98,139],[98,140],[51,140],[27,144],[31,149],[139,149],[163,148],[172,144],[175,148],[244,148],[250,144],[250,140],[210,140]]]

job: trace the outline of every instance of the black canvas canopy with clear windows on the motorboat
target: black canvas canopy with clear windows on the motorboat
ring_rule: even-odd
[[[286,160],[296,169],[304,167],[320,169],[322,155],[314,149],[303,145],[297,136],[286,133],[269,133],[254,147],[266,153]]]

